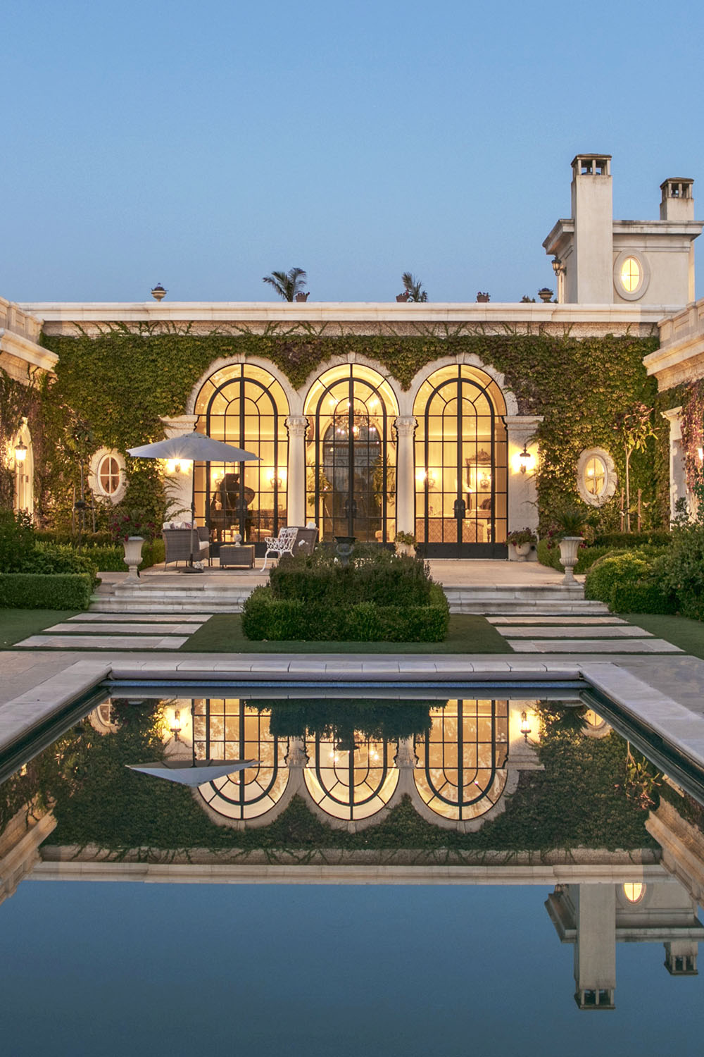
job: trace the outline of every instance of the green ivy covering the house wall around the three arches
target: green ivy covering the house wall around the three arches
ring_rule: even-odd
[[[553,337],[544,334],[468,334],[445,336],[360,336],[292,334],[272,328],[264,335],[248,332],[195,335],[189,328],[136,332],[115,328],[97,337],[44,337],[57,352],[55,379],[38,393],[42,437],[36,465],[36,508],[52,521],[65,515],[78,467],[104,445],[125,450],[163,435],[161,415],[177,415],[198,377],[216,359],[256,356],[270,360],[294,388],[332,356],[356,354],[379,365],[400,386],[411,388],[414,375],[440,357],[473,354],[501,372],[522,414],[541,414],[538,430],[543,452],[538,471],[541,523],[550,512],[577,501],[576,463],[586,447],[611,452],[620,481],[625,452],[614,431],[619,411],[642,402],[655,403],[655,383],[648,378],[643,356],[657,338]],[[668,504],[667,424],[653,419],[658,432],[645,452],[631,462],[631,496],[643,489],[648,524],[666,522]],[[33,430],[33,437],[37,434]],[[90,450],[89,450],[90,449]],[[154,466],[128,462],[130,485],[126,502],[148,505],[160,496]],[[601,514],[604,528],[617,528],[620,493]]]

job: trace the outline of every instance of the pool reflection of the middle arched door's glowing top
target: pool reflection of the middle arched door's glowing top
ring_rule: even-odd
[[[354,740],[353,740],[354,737]],[[364,735],[322,737],[308,743],[305,783],[315,803],[335,818],[368,818],[391,800],[398,784],[396,742]]]

